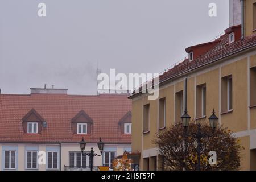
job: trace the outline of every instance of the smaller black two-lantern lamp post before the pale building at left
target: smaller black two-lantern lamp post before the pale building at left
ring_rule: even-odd
[[[100,138],[100,142],[97,143],[98,144],[98,149],[101,152],[100,155],[93,153],[93,147],[90,148],[90,153],[84,153],[84,149],[85,149],[85,146],[86,146],[86,142],[84,140],[84,137],[82,137],[82,140],[81,140],[81,142],[79,142],[79,144],[80,144],[82,155],[85,155],[85,156],[88,155],[90,157],[90,171],[92,171],[93,170],[93,158],[95,156],[101,156],[102,155],[102,151],[103,151],[103,148],[104,148],[104,142],[102,142],[101,138]]]

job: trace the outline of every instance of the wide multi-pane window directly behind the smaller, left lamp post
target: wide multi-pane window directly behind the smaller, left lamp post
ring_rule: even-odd
[[[79,168],[90,167],[90,158],[89,156],[82,155],[81,152],[69,152],[69,166]]]

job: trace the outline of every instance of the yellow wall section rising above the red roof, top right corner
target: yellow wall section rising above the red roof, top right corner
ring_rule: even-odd
[[[256,34],[256,31],[253,31],[253,3],[255,2],[256,0],[245,0],[245,36]]]

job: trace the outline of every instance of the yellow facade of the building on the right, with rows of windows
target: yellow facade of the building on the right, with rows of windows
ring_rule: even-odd
[[[207,51],[194,57],[195,60],[193,57],[185,60],[189,69],[180,69],[162,82],[160,79],[158,100],[148,100],[147,94],[131,94],[132,151],[141,152],[137,161],[141,170],[163,169],[163,157],[152,141],[160,130],[180,123],[186,78],[187,110],[191,118],[196,122],[208,122],[214,108],[219,125],[232,130],[245,147],[241,154],[241,170],[256,170],[256,0],[245,0],[244,3],[245,40],[240,40],[241,32],[232,32],[232,28],[226,30],[221,40],[216,40],[227,41],[222,47],[229,44],[222,52],[216,49],[224,56],[217,54],[212,56],[213,61],[208,61]],[[233,33],[237,39],[234,43],[230,38]],[[199,50],[201,48],[199,46]],[[193,56],[196,56],[196,49],[193,50]],[[214,48],[209,50],[215,51]],[[205,64],[199,59],[206,60]],[[193,61],[198,66],[193,67]]]

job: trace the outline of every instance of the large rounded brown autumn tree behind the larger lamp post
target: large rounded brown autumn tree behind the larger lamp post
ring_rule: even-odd
[[[190,123],[188,132],[196,133],[197,125]],[[201,125],[203,133],[212,134],[206,124]],[[183,125],[175,125],[162,130],[156,135],[154,144],[159,147],[164,157],[165,170],[195,170],[197,163],[196,138],[184,134]],[[232,136],[232,132],[224,127],[217,127],[213,137],[201,139],[201,170],[238,170],[240,168],[241,150],[244,148],[240,140]],[[217,163],[209,164],[210,151],[217,154]]]

